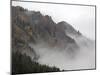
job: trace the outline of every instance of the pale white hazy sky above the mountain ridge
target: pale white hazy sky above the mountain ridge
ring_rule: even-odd
[[[40,11],[44,15],[49,15],[57,23],[66,21],[84,36],[95,39],[95,7],[47,4],[34,2],[12,2],[14,6],[22,6],[29,10]]]

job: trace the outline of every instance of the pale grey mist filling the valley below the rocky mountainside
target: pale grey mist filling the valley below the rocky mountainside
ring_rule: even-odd
[[[85,38],[84,38],[85,39]],[[77,43],[80,49],[74,54],[74,52],[69,53],[67,48],[65,50],[59,50],[55,48],[48,48],[46,45],[33,45],[36,53],[40,56],[38,62],[40,64],[46,64],[49,66],[56,66],[61,70],[75,70],[75,69],[91,69],[95,68],[95,44],[90,41],[80,38]],[[84,44],[84,45],[83,45]]]

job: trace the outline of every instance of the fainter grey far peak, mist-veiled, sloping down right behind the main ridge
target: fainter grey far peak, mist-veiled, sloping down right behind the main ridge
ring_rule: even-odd
[[[79,46],[91,47],[94,45],[93,40],[82,35],[79,31],[75,30],[70,24],[65,21],[59,22],[58,27],[65,30],[66,34],[73,38]]]

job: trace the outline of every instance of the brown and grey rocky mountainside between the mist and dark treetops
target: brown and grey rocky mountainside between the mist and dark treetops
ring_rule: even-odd
[[[67,22],[56,24],[48,15],[12,6],[13,51],[25,53],[37,60],[39,55],[31,48],[30,43],[33,45],[43,43],[50,48],[57,47],[60,50],[68,48],[69,52],[76,52],[79,46],[69,34],[81,35]]]

